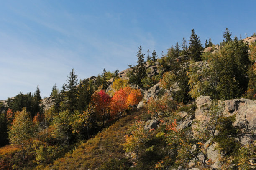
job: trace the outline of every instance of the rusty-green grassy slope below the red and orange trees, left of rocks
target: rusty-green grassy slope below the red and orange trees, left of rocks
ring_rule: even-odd
[[[125,152],[121,144],[125,142],[125,133],[129,125],[134,122],[134,117],[141,112],[143,110],[118,120],[94,138],[82,143],[73,153],[67,153],[64,158],[59,158],[48,165],[45,170],[95,169],[109,158],[124,158]],[[37,167],[37,169],[41,168]]]

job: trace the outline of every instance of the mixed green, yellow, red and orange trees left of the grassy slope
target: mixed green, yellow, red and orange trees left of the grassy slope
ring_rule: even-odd
[[[104,75],[107,74],[102,79],[107,82]],[[10,108],[4,117],[6,143],[20,146],[21,162],[34,158],[38,164],[51,162],[56,155],[69,150],[70,145],[90,138],[138,105],[143,97],[141,90],[127,87],[127,80],[116,77],[115,91],[110,97],[103,89],[104,83],[98,88],[88,80],[78,85],[72,69],[60,92],[53,86],[54,105],[45,112],[40,105],[39,87],[33,95],[20,93],[14,100],[8,100]]]

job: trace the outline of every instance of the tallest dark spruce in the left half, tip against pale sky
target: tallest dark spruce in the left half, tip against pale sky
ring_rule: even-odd
[[[77,104],[77,81],[77,75],[75,75],[74,69],[72,69],[72,71],[69,73],[67,84],[65,84],[67,89],[65,97],[67,97],[67,105],[71,113],[74,112]]]

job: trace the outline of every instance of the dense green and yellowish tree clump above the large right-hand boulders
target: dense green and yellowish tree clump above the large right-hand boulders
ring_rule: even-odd
[[[250,89],[255,89],[256,75],[253,74],[248,47],[243,41],[236,36],[234,40],[228,38],[218,52],[204,55],[207,56],[204,58],[209,62],[209,68],[202,69],[192,63],[187,71],[192,98],[210,95],[214,99],[228,100],[246,95],[253,99],[247,94],[252,92]]]

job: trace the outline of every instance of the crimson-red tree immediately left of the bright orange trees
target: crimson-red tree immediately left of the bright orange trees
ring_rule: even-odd
[[[92,103],[95,106],[96,114],[101,117],[102,127],[104,127],[105,120],[109,118],[110,97],[105,90],[96,91],[92,95]]]

